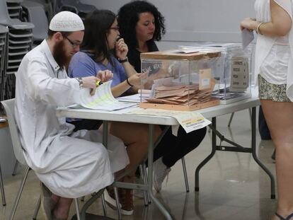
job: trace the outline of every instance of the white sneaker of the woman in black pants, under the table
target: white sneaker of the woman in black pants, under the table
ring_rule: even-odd
[[[161,191],[163,180],[165,180],[170,171],[171,168],[168,168],[165,164],[163,164],[162,158],[159,158],[156,162],[154,162],[154,189],[156,192]]]

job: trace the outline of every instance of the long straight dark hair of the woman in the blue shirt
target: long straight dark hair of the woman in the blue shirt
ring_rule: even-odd
[[[108,10],[95,10],[86,16],[81,50],[93,50],[94,59],[97,62],[103,62],[104,59],[108,59],[108,62],[113,65],[108,47],[107,33],[115,18],[115,13]]]

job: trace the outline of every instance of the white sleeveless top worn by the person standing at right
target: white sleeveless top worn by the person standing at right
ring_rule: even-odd
[[[292,18],[291,0],[274,1]],[[256,21],[271,21],[270,0],[256,0],[255,11]],[[287,84],[287,95],[290,100],[293,100],[292,45],[293,35],[290,30],[284,37],[258,35],[255,50],[255,81],[258,74],[261,74],[270,83]]]

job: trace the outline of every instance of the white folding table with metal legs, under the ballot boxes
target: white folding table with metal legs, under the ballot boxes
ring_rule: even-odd
[[[195,170],[195,191],[199,190],[199,173],[200,168],[204,166],[211,158],[214,156],[216,151],[237,151],[237,152],[245,152],[253,154],[253,158],[258,165],[265,170],[270,177],[271,181],[271,198],[275,198],[275,180],[270,173],[270,170],[266,168],[263,163],[258,159],[256,154],[256,146],[255,146],[255,115],[256,115],[256,107],[260,105],[260,100],[256,95],[253,95],[252,98],[248,98],[246,100],[241,100],[236,103],[231,103],[227,105],[217,105],[211,108],[205,108],[202,110],[197,110],[206,118],[212,118],[212,152],[205,158],[199,166],[197,166]],[[240,146],[239,144],[234,143],[233,141],[229,141],[228,139],[224,138],[222,134],[217,131],[216,127],[216,118],[221,115],[226,115],[229,113],[237,112],[240,110],[251,109],[251,148]],[[134,115],[134,114],[125,114],[125,112],[130,110],[117,110],[117,111],[103,111],[103,110],[89,110],[89,109],[74,109],[74,108],[58,108],[57,109],[57,116],[65,116],[65,117],[74,117],[74,118],[83,118],[83,119],[91,119],[91,120],[103,120],[103,125],[105,126],[103,129],[103,144],[107,145],[108,139],[108,122],[117,121],[117,122],[134,122],[134,123],[144,123],[149,125],[149,153],[148,153],[148,167],[149,173],[153,172],[153,134],[154,134],[154,125],[178,125],[178,122],[173,117],[166,117],[166,116],[157,116],[157,115]],[[226,141],[233,146],[217,146],[216,139],[217,136],[222,139],[222,141]],[[149,192],[151,202],[154,202],[166,219],[172,219],[171,214],[166,210],[165,207],[159,202],[156,197],[154,197],[152,192],[152,183],[153,177],[149,175],[148,178],[148,185],[139,185],[139,189],[147,190]],[[132,188],[134,184],[130,184],[126,186],[125,184],[123,187]],[[83,215],[81,215],[82,217]]]

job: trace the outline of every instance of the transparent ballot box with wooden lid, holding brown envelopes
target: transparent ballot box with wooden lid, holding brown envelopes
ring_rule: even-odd
[[[197,110],[219,105],[212,97],[219,88],[219,51],[182,52],[168,50],[142,53],[142,88],[149,90],[141,108]],[[144,91],[142,90],[142,91]]]

